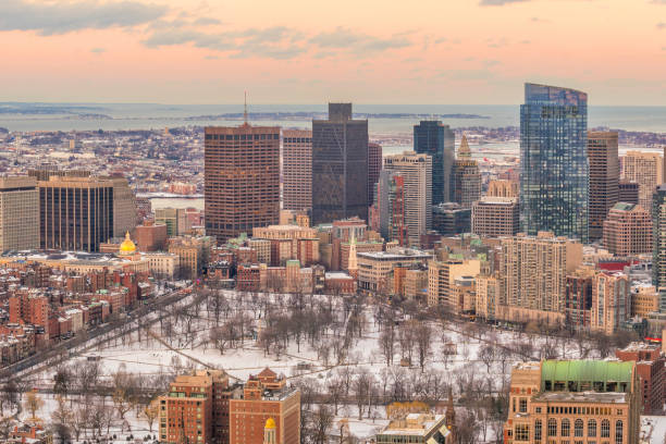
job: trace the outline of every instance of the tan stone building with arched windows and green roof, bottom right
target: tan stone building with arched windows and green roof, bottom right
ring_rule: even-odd
[[[509,393],[505,443],[639,442],[641,399],[634,362],[521,362],[511,371]]]

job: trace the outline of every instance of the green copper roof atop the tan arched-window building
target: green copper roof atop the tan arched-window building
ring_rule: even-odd
[[[602,360],[544,360],[541,366],[541,382],[627,382],[631,383],[632,361]]]

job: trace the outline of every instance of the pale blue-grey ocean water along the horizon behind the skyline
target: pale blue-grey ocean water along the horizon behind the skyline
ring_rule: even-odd
[[[190,125],[237,125],[238,120],[211,120],[207,115],[243,112],[242,104],[155,104],[155,103],[2,103],[7,107],[33,109],[66,109],[62,113],[0,112],[0,127],[9,131],[116,131],[150,130]],[[51,109],[49,111],[48,109]],[[325,104],[251,104],[251,112],[325,112]],[[355,104],[355,112],[410,114],[477,114],[486,119],[442,119],[452,127],[504,127],[520,124],[519,106],[472,104]],[[79,115],[83,114],[83,115]],[[100,118],[103,114],[107,118]],[[198,119],[192,119],[197,118]],[[370,135],[410,135],[419,119],[370,119]],[[308,128],[310,120],[257,121],[261,125],[285,128]],[[616,130],[666,133],[666,107],[590,107],[589,127],[605,126]]]

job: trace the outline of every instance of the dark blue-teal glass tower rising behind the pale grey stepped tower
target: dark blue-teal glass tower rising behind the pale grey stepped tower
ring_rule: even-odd
[[[432,203],[453,200],[451,175],[455,160],[456,135],[440,121],[414,125],[414,150],[432,157]]]

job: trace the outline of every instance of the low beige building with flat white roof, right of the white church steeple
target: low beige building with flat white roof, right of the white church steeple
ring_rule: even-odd
[[[357,245],[358,247],[358,245]],[[386,251],[358,252],[358,288],[369,293],[388,295],[393,292],[393,269],[425,263],[432,256],[409,248]]]

